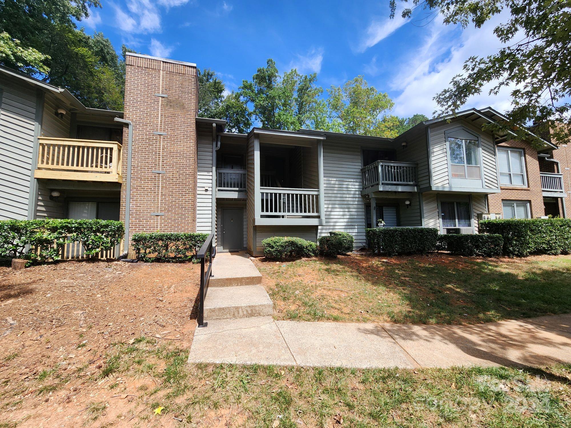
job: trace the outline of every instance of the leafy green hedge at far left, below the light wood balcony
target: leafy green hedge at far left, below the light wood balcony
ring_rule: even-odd
[[[124,235],[115,220],[2,220],[0,256],[36,263],[61,259],[62,248],[81,243],[87,257],[115,247]]]

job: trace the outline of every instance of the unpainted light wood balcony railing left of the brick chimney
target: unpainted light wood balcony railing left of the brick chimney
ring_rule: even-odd
[[[38,138],[39,179],[122,183],[121,144],[112,141]]]

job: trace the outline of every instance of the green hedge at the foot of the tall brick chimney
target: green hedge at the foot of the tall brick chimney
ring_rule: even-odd
[[[134,233],[131,245],[142,261],[196,260],[208,233]]]

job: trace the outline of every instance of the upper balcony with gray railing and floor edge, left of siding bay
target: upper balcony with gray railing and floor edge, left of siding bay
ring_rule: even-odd
[[[361,169],[363,191],[373,192],[416,192],[417,164],[377,160]]]

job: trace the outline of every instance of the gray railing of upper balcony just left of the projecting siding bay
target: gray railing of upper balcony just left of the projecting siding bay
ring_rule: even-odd
[[[375,185],[416,185],[416,163],[377,160],[361,169],[363,188]]]

